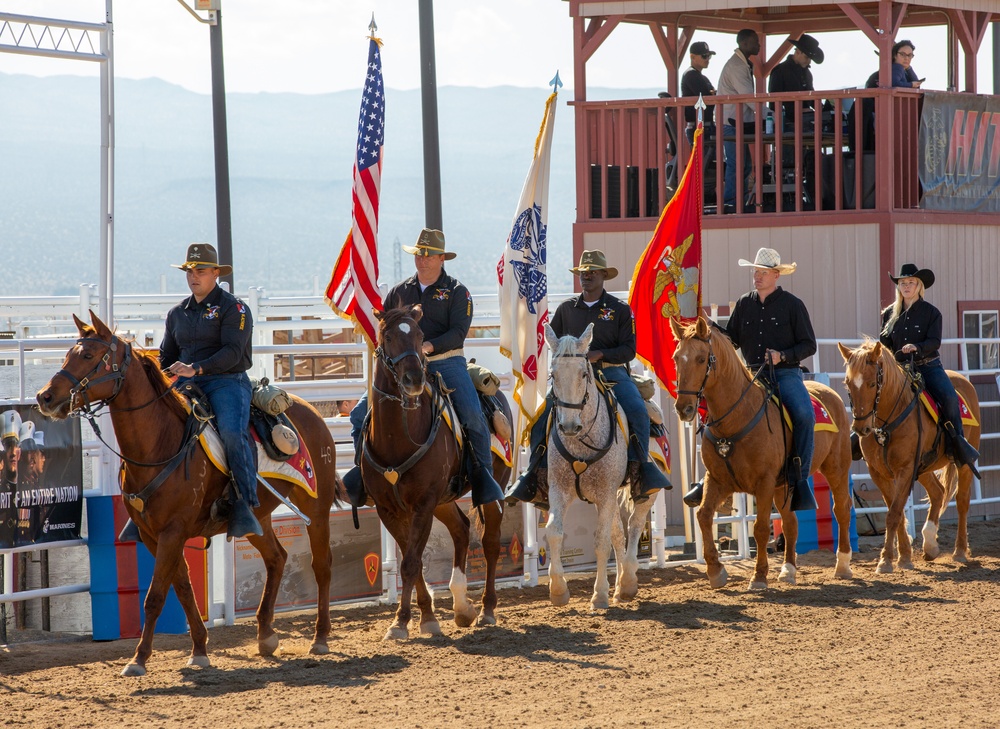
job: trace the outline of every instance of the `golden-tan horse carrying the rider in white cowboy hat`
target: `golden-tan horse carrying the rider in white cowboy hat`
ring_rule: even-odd
[[[757,544],[757,565],[750,582],[751,590],[767,587],[767,541],[770,532],[771,503],[781,513],[785,535],[785,563],[778,579],[795,584],[795,540],[799,523],[791,510],[784,480],[784,465],[791,449],[792,434],[782,427],[778,406],[768,396],[750,371],[736,356],[732,342],[724,334],[712,331],[704,318],[681,326],[671,321],[677,348],[677,414],[681,420],[693,420],[702,397],[708,408],[708,420],[702,436],[701,458],[707,469],[705,495],[698,508],[698,523],[704,539],[705,562],[712,587],[722,587],[728,576],[719,562],[719,552],[712,540],[712,519],[716,509],[733,492],[753,494],[757,500],[757,519],[753,536]],[[837,519],[837,567],[834,574],[844,579],[851,572],[851,493],[848,471],[851,466],[851,442],[847,411],[840,396],[826,385],[807,382],[806,388],[829,413],[837,432],[816,432],[816,449],[810,473],[822,472],[833,492],[833,513]]]

